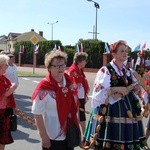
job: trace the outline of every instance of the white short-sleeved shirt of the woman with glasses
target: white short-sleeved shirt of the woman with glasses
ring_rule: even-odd
[[[65,85],[66,80],[63,78],[63,87]],[[60,127],[56,104],[56,93],[54,91],[45,92],[48,94],[42,100],[39,99],[39,95],[33,100],[32,113],[43,116],[45,128],[50,139],[64,140],[66,135]]]

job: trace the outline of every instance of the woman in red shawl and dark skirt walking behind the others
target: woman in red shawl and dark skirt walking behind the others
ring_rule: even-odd
[[[78,98],[80,102],[79,119],[82,133],[84,132],[86,126],[85,104],[89,92],[89,85],[83,72],[83,69],[87,63],[87,57],[88,54],[86,52],[75,53],[73,59],[74,62],[68,69],[68,74],[74,78],[74,81],[77,84]]]

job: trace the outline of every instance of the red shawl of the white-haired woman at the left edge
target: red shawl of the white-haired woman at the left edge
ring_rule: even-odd
[[[11,82],[4,76],[0,76],[0,100],[4,97],[4,93],[11,87]],[[13,93],[7,98],[6,108],[16,107],[15,99]]]

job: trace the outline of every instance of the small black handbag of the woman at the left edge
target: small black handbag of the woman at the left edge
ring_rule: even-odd
[[[10,116],[10,131],[16,131],[17,130],[17,115],[12,114]]]

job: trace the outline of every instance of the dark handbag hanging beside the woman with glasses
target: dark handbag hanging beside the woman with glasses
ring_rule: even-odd
[[[67,126],[69,127],[66,134],[67,145],[69,148],[74,148],[81,143],[81,132],[75,123],[68,119]]]

